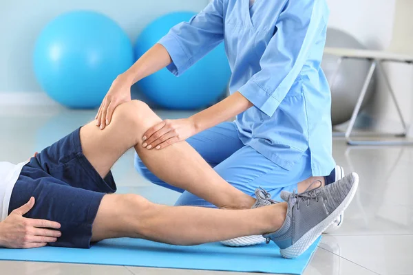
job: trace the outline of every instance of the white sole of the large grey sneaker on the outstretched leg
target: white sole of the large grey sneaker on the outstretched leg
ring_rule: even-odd
[[[346,198],[341,201],[340,205],[328,217],[326,217],[326,219],[315,225],[314,228],[310,229],[306,234],[301,236],[301,238],[289,248],[280,250],[280,253],[284,258],[295,259],[297,256],[303,254],[306,250],[308,250],[310,245],[315,242],[321,233],[323,233],[324,230],[326,230],[326,228],[328,228],[328,226],[330,226],[344,212],[344,210],[346,210],[359,186],[359,175],[357,175],[357,173],[352,173],[352,177],[354,177],[354,184],[352,185]]]

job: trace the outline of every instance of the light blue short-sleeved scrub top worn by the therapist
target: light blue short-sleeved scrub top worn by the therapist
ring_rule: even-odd
[[[224,41],[230,92],[254,104],[235,121],[242,142],[287,170],[308,150],[313,175],[329,175],[331,94],[320,67],[328,15],[326,0],[214,0],[159,43],[179,76]]]

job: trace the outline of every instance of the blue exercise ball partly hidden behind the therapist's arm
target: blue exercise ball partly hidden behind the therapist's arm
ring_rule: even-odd
[[[136,58],[145,54],[162,36],[195,13],[173,12],[150,23],[136,41]],[[137,85],[147,98],[168,109],[200,109],[217,102],[226,91],[231,69],[223,43],[204,56],[182,76],[173,76],[166,68],[140,80]]]

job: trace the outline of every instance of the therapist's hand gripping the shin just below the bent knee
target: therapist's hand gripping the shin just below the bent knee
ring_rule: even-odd
[[[142,137],[142,146],[151,150],[165,148],[195,135],[196,127],[191,118],[164,120],[151,127]]]

